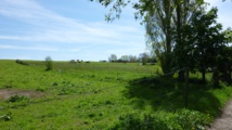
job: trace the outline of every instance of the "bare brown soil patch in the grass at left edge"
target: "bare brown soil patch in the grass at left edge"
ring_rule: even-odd
[[[0,89],[0,99],[8,100],[14,94],[24,95],[27,98],[40,98],[44,95],[41,92],[27,91],[27,90],[13,90],[13,89]]]

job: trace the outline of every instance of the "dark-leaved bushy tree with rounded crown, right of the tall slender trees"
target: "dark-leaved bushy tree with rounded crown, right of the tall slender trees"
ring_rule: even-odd
[[[225,46],[225,38],[222,30],[222,25],[217,23],[217,9],[212,8],[205,12],[196,11],[190,25],[186,25],[188,31],[185,34],[189,46],[186,54],[191,54],[197,69],[202,73],[203,82],[206,81],[206,69],[215,67],[217,57],[223,55],[223,47]],[[186,29],[185,29],[186,30]],[[188,57],[188,55],[186,55]]]

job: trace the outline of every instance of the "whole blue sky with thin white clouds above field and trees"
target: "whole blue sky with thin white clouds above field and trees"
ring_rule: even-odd
[[[218,5],[224,28],[232,25],[232,1],[206,1]],[[0,58],[100,61],[145,52],[134,10],[126,8],[113,23],[104,21],[107,12],[89,0],[1,0]]]

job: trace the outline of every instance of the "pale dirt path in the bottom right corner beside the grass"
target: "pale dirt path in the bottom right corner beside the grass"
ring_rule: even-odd
[[[222,115],[208,130],[232,130],[232,100],[224,107]]]

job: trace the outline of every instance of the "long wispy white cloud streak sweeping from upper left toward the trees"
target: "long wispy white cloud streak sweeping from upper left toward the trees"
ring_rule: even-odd
[[[138,41],[143,38],[143,32],[138,28],[72,20],[44,9],[34,0],[2,0],[0,15],[37,28],[37,31],[31,31],[29,36],[1,35],[0,39],[124,44],[125,41],[121,39]]]

